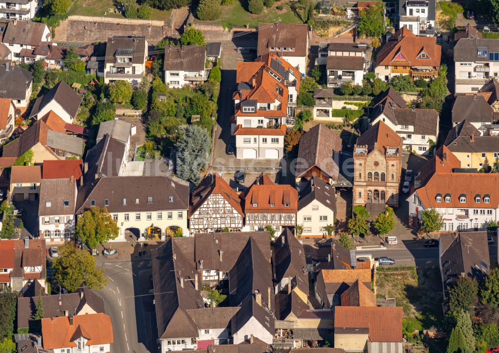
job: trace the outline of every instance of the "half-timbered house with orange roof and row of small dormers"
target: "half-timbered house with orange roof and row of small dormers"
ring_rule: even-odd
[[[251,185],[244,206],[245,231],[261,231],[272,226],[278,236],[282,227],[296,225],[298,191],[290,185],[275,184],[262,173]]]

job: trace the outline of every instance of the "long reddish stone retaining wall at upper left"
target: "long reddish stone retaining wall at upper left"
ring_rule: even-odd
[[[149,43],[156,43],[166,36],[172,36],[171,29],[164,21],[69,16],[55,29],[55,41],[91,43],[107,41],[115,35],[142,35]]]

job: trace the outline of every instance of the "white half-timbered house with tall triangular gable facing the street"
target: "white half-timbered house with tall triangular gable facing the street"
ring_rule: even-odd
[[[239,195],[218,174],[208,174],[194,189],[189,205],[189,229],[194,233],[243,228]]]

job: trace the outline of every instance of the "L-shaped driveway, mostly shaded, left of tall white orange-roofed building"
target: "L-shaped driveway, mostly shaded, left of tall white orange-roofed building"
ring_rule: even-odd
[[[211,166],[219,171],[278,169],[278,160],[242,160],[226,153],[228,143],[236,143],[231,136],[231,116],[234,114],[233,93],[237,89],[236,66],[241,61],[253,61],[255,53],[239,53],[234,43],[224,43],[222,52],[222,82],[218,100],[218,118],[215,127]]]

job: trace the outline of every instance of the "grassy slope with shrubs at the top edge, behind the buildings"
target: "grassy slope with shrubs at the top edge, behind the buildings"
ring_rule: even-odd
[[[278,10],[276,6],[283,4],[284,8]],[[247,0],[234,0],[232,5],[222,6],[222,16],[215,21],[203,21],[221,23],[226,27],[242,26],[250,24],[251,27],[257,27],[260,22],[276,22],[283,23],[301,23],[298,17],[293,13],[289,7],[290,2],[279,1],[275,2],[272,8],[266,8],[260,14],[252,14],[248,11]],[[195,22],[200,22],[195,19]]]

